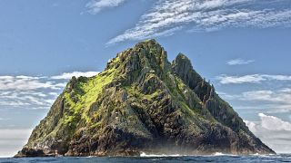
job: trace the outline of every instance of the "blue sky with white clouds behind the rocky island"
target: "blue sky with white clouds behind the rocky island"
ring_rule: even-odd
[[[0,157],[25,145],[72,76],[154,38],[185,53],[278,153],[291,153],[289,0],[0,0]]]

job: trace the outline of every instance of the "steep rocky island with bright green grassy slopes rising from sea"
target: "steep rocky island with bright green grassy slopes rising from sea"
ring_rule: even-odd
[[[155,40],[118,53],[95,77],[73,77],[15,157],[274,153],[184,54]]]

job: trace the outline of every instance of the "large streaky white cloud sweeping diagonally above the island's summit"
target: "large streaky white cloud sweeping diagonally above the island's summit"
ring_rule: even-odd
[[[276,3],[276,5],[274,5]],[[289,0],[158,0],[135,27],[108,44],[156,35],[209,32],[227,27],[274,27],[291,24]]]

